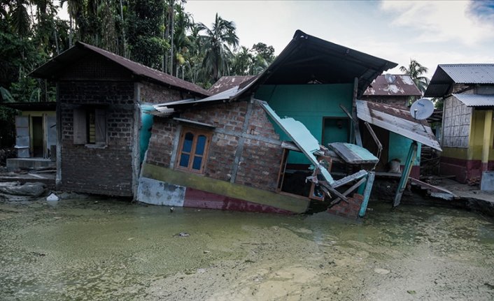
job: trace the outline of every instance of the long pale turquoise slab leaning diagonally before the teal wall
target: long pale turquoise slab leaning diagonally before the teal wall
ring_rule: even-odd
[[[327,171],[326,168],[319,164],[319,161],[316,159],[316,156],[313,155],[313,152],[320,149],[319,142],[311,132],[302,124],[292,117],[288,118],[280,118],[276,112],[265,102],[260,101],[262,108],[267,112],[269,117],[271,117],[278,126],[292,139],[292,142],[299,147],[300,151],[304,153],[304,155],[311,161],[313,166],[318,168],[325,177],[326,181],[331,185],[334,182],[334,179],[331,177],[330,172]]]

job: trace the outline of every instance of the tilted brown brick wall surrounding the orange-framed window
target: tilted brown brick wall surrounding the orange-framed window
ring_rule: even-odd
[[[275,191],[283,154],[279,135],[257,103],[252,104],[248,125],[243,132],[247,111],[248,103],[240,101],[187,110],[180,117],[216,126],[216,129],[211,130],[213,136],[204,175],[230,181],[234,172],[235,154],[241,148],[239,142],[243,139],[235,183]],[[170,166],[176,126],[178,123],[172,119],[155,118],[146,159],[148,163]]]

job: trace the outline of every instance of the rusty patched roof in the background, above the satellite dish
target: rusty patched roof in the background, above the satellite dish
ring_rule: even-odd
[[[365,96],[422,96],[410,75],[379,75],[367,87]]]

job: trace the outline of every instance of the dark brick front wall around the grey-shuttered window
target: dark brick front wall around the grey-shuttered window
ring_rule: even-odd
[[[62,189],[132,196],[134,83],[113,81],[59,82]],[[73,144],[73,110],[104,105],[104,148]]]

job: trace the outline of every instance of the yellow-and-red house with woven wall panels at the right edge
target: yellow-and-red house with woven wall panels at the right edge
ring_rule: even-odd
[[[438,65],[425,96],[444,101],[439,171],[478,183],[494,170],[494,64]]]

